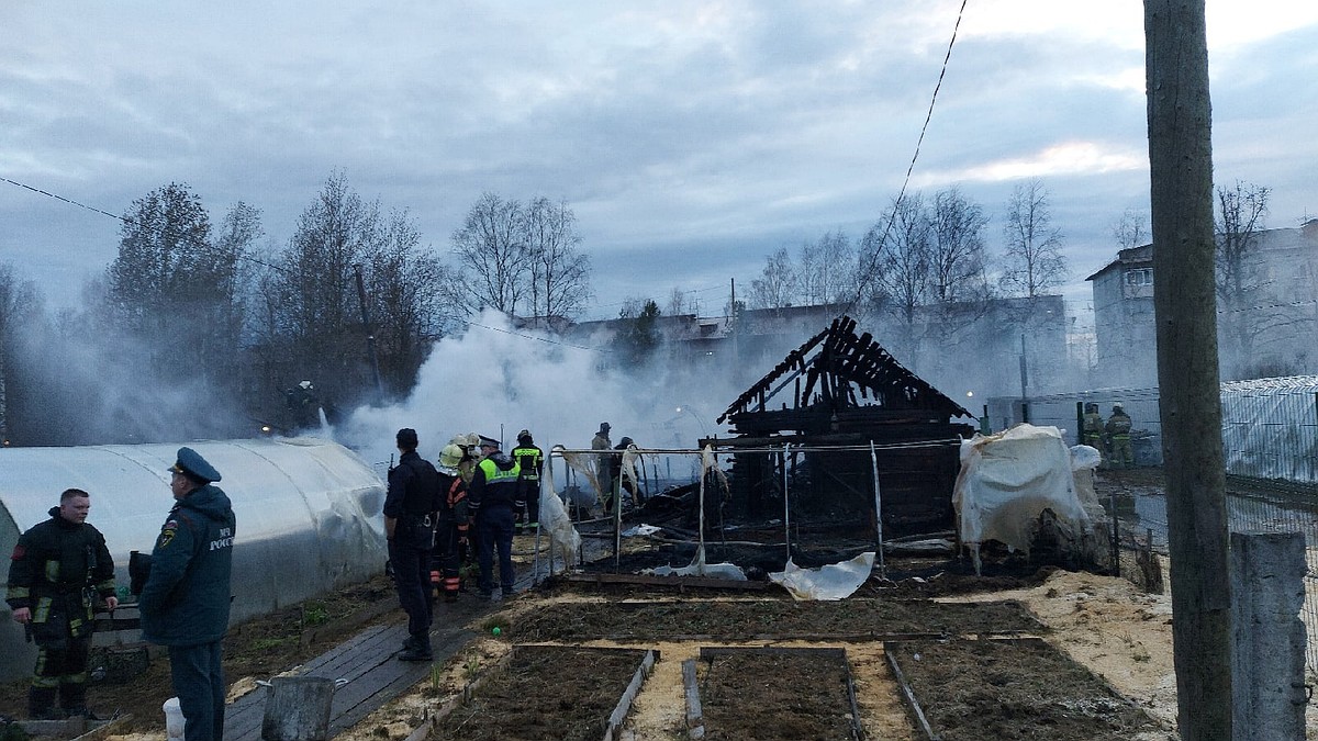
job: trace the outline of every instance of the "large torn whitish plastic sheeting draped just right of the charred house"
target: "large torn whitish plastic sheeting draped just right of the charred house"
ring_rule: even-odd
[[[1075,490],[1072,452],[1057,427],[1016,425],[961,442],[953,505],[961,542],[998,541],[1029,551],[1039,516],[1050,509],[1081,531],[1090,517]]]

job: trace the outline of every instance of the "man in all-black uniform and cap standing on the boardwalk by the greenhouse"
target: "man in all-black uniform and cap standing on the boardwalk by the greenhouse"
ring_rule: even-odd
[[[403,427],[395,440],[402,456],[398,465],[389,469],[385,537],[398,585],[398,604],[407,613],[407,639],[398,659],[430,661],[430,562],[440,506],[439,473],[416,455],[416,430]]]

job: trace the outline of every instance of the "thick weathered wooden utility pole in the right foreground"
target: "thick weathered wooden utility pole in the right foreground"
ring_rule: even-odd
[[[1185,741],[1230,740],[1231,568],[1205,0],[1144,0],[1144,37],[1177,725]]]

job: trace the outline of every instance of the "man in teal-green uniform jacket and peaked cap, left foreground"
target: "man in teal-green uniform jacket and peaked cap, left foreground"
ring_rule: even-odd
[[[229,628],[236,521],[220,472],[192,448],[169,468],[174,509],[152,550],[137,605],[142,638],[169,646],[170,675],[187,741],[224,737],[220,643]]]

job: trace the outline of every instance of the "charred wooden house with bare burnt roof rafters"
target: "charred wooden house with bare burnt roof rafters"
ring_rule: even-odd
[[[734,514],[780,517],[786,488],[793,513],[870,529],[878,501],[892,537],[952,527],[960,438],[974,434],[954,421],[971,417],[842,316],[724,411],[734,436],[705,442],[733,455]]]

